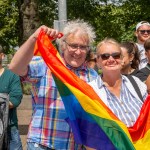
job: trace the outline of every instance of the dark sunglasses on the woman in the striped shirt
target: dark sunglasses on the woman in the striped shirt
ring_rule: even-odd
[[[110,58],[110,56],[112,56],[114,59],[120,59],[121,53],[115,52],[115,53],[112,53],[112,54],[109,54],[109,53],[99,54],[98,58],[101,57],[102,60],[107,60],[107,59]]]

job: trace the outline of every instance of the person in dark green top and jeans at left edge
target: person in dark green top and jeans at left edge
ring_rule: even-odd
[[[22,88],[19,76],[2,66],[5,55],[0,46],[0,93],[9,95],[9,124],[8,137],[10,150],[22,150],[22,143],[18,130],[17,107],[22,100]]]

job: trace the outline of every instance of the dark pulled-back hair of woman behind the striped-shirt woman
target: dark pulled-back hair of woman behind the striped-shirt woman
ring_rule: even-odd
[[[140,64],[140,55],[138,52],[137,45],[134,42],[123,42],[120,44],[120,46],[127,49],[129,56],[134,55],[134,58],[131,63],[131,67],[134,69],[138,69]]]

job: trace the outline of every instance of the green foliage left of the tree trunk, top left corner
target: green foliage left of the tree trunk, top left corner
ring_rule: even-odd
[[[18,43],[18,7],[15,0],[0,0],[0,44],[11,53]]]

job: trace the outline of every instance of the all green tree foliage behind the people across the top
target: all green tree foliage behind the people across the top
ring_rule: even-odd
[[[67,18],[83,19],[95,29],[96,43],[105,37],[118,41],[135,41],[134,31],[138,22],[150,22],[148,0],[66,0]],[[0,0],[0,43],[7,53],[18,45],[22,29],[19,9],[23,0]],[[58,20],[58,1],[37,0],[41,24],[53,27]],[[18,9],[19,7],[19,9]]]

